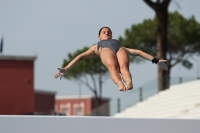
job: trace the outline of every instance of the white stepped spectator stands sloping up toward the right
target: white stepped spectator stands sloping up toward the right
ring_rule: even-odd
[[[200,80],[172,85],[114,116],[200,119]]]

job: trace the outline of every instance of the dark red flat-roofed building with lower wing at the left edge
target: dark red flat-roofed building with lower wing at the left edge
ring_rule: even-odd
[[[35,56],[0,56],[0,114],[49,114],[55,93],[34,90]]]

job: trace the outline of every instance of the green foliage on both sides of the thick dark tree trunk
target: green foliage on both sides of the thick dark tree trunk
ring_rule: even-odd
[[[130,29],[125,30],[125,36],[119,37],[119,41],[125,47],[141,49],[154,56],[157,55],[160,48],[157,46],[157,17],[144,20],[140,24],[132,25]],[[184,18],[178,12],[169,13],[168,34],[166,58],[169,61],[169,75],[172,67],[178,63],[186,68],[191,68],[190,57],[194,54],[200,54],[200,23],[194,16]],[[140,58],[133,57],[132,61],[140,61]],[[161,78],[158,76],[158,78]],[[168,80],[168,84],[169,84]],[[158,82],[160,82],[158,80]],[[159,87],[158,87],[159,88]],[[159,90],[162,90],[159,88]]]

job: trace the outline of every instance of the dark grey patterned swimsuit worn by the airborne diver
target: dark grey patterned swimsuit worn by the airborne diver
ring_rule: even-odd
[[[114,53],[117,53],[117,51],[122,47],[118,40],[116,39],[109,39],[109,40],[101,40],[97,43],[98,49],[100,47],[102,48],[109,48]]]

